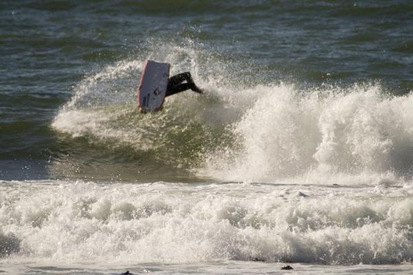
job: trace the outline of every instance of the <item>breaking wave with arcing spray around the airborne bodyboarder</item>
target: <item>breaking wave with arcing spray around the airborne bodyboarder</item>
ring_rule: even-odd
[[[167,98],[162,111],[139,113],[146,58],[171,63],[171,74],[191,71],[206,96],[187,91]],[[390,96],[374,83],[308,88],[260,79],[253,64],[240,60],[224,61],[192,41],[164,45],[87,76],[52,126],[100,148],[129,151],[120,162],[139,155],[142,164],[145,155],[200,177],[411,176],[412,94]]]

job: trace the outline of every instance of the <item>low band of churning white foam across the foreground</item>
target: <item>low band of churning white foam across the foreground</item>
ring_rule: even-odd
[[[412,184],[2,182],[0,252],[36,263],[412,261]]]

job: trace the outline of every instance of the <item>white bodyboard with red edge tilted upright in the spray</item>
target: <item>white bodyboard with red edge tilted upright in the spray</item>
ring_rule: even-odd
[[[170,67],[169,63],[147,61],[140,77],[138,91],[138,104],[141,111],[156,111],[162,106]]]

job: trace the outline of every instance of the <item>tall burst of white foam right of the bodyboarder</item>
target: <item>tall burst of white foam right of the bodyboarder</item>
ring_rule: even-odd
[[[207,175],[251,181],[308,173],[409,175],[412,94],[385,96],[378,85],[344,91],[276,85],[256,92],[253,107],[233,124],[238,146],[210,156]]]

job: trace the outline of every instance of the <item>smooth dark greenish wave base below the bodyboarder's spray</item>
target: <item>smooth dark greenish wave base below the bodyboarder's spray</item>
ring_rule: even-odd
[[[187,167],[171,163],[153,150],[111,148],[67,135],[59,135],[56,143],[59,151],[47,165],[47,174],[53,179],[190,182],[196,178]]]

